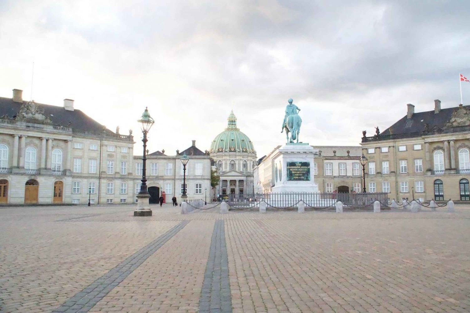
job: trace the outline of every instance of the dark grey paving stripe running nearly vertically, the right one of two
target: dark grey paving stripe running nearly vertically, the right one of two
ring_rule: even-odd
[[[204,283],[199,298],[199,313],[232,312],[228,280],[228,255],[224,221],[215,221]]]

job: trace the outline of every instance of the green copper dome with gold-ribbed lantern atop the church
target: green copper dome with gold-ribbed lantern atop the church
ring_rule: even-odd
[[[212,140],[210,153],[216,152],[246,152],[255,153],[250,138],[236,127],[236,117],[232,110],[228,115],[227,128]]]

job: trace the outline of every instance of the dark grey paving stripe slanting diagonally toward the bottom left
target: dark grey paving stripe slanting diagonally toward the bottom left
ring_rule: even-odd
[[[104,298],[114,287],[139,267],[145,260],[163,246],[171,237],[183,229],[189,221],[182,221],[162,236],[158,237],[133,255],[122,261],[118,266],[108,273],[92,282],[84,290],[67,300],[63,305],[56,308],[53,313],[85,313],[91,310],[102,298]]]

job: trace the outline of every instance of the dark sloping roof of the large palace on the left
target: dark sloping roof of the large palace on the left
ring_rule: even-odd
[[[15,102],[11,98],[0,97],[0,116],[7,115],[9,118],[15,118],[22,104],[28,101]],[[51,106],[48,104],[35,103],[37,107],[44,110],[44,115],[52,120],[55,126],[70,127],[72,130],[87,130],[113,133],[106,129],[102,124],[86,115],[80,110],[68,111],[63,107]]]

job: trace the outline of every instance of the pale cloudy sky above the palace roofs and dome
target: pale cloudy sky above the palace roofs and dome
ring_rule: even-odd
[[[148,106],[151,151],[209,149],[233,109],[261,157],[285,141],[289,98],[301,141],[358,145],[407,103],[460,103],[469,16],[468,0],[1,0],[0,96],[29,100],[34,62],[32,99],[133,129],[136,153]]]

